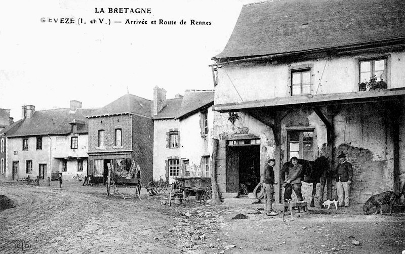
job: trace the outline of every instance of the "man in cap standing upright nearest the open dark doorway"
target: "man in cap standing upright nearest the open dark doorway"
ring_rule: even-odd
[[[276,211],[273,211],[273,194],[274,194],[274,171],[275,159],[269,159],[264,165],[264,177],[263,177],[263,192],[264,192],[264,210],[267,215],[278,215]]]

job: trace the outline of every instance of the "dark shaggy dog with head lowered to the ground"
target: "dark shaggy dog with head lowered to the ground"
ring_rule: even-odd
[[[396,203],[396,200],[400,198],[402,194],[403,191],[399,195],[395,194],[392,191],[386,191],[377,195],[373,195],[363,205],[363,213],[365,215],[368,215],[371,208],[375,206],[376,212],[374,214],[378,214],[378,211],[380,211],[380,214],[383,215],[382,206],[384,204],[389,204],[389,214],[391,215],[394,203]]]

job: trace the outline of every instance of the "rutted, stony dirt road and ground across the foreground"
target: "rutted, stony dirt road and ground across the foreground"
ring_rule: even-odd
[[[0,253],[401,253],[405,214],[363,216],[361,207],[294,218],[262,214],[263,204],[165,205],[119,187],[67,182],[59,189],[0,183],[14,207],[0,211]],[[233,220],[238,214],[248,219]],[[352,241],[358,241],[354,245]]]

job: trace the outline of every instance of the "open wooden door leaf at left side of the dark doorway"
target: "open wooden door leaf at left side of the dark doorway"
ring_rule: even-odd
[[[239,192],[239,151],[228,148],[227,192]]]

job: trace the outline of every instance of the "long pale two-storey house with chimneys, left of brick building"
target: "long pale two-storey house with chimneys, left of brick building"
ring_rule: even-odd
[[[71,180],[87,173],[88,127],[93,109],[70,101],[70,108],[35,110],[22,106],[21,120],[6,132],[6,179],[40,180],[62,172]]]

